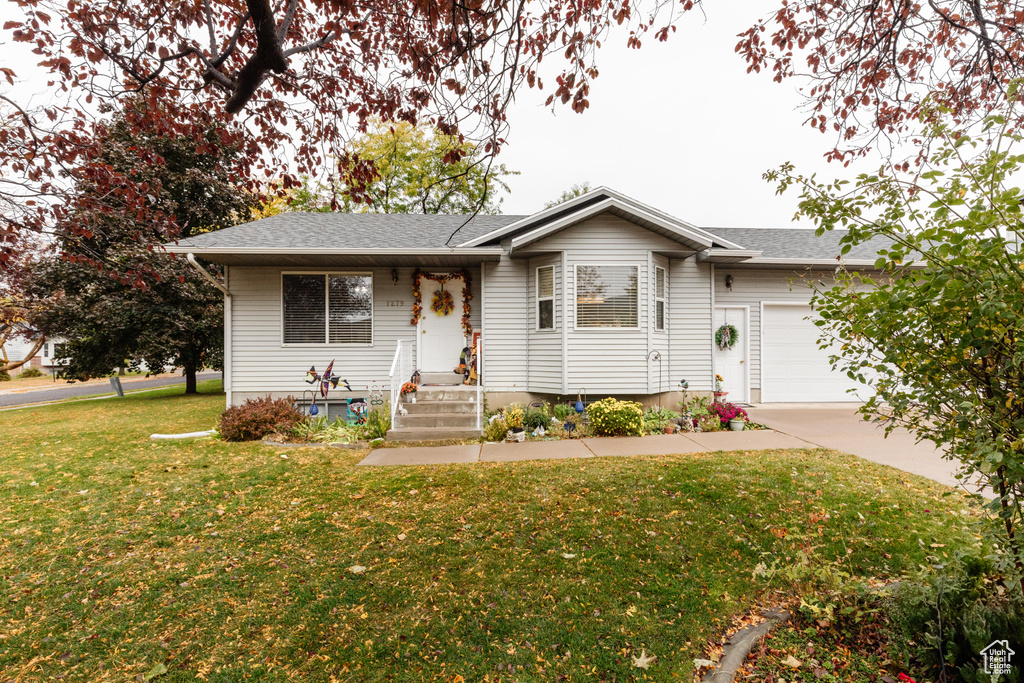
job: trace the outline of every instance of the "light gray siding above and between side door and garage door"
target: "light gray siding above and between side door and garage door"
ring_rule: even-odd
[[[805,275],[801,278],[801,274]],[[819,275],[814,271],[814,275]],[[725,276],[732,275],[732,291],[725,287]],[[751,307],[750,349],[751,388],[761,388],[761,302],[799,302],[811,300],[811,279],[807,272],[793,270],[753,270],[719,265],[715,268],[715,303],[720,306]],[[831,283],[831,275],[826,275]],[[709,332],[714,334],[714,331]]]

